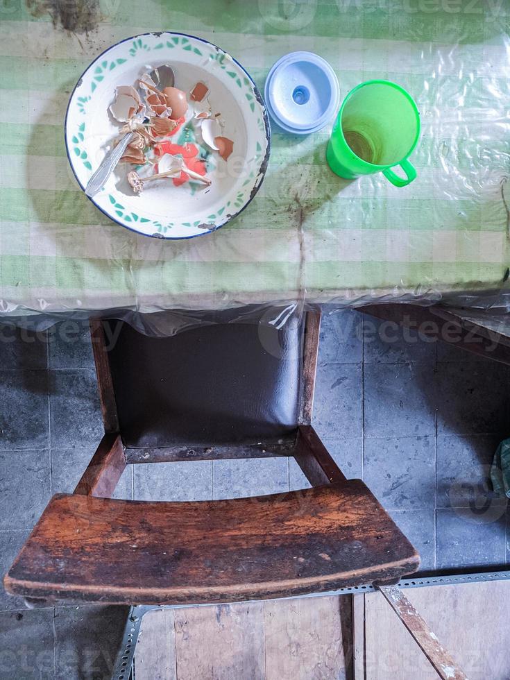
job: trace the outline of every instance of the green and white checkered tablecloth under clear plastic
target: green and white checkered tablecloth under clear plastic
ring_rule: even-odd
[[[51,17],[49,6],[67,15]],[[303,297],[432,299],[502,285],[510,262],[505,0],[31,0],[28,7],[24,0],[0,6],[4,316]],[[80,32],[85,25],[91,30]],[[325,164],[329,128],[304,139],[273,128],[261,191],[221,230],[161,241],[110,222],[69,169],[67,101],[110,44],[161,30],[218,44],[261,89],[273,62],[293,50],[325,57],[341,96],[369,78],[400,83],[423,122],[411,159],[418,179],[405,189],[382,176],[346,182]]]

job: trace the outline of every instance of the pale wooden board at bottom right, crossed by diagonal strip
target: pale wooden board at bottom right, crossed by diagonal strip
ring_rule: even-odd
[[[469,680],[510,678],[510,581],[409,588],[405,594]],[[364,597],[365,679],[436,680],[384,597]]]

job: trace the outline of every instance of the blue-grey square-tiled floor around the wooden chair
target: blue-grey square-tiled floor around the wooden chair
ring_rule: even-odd
[[[502,565],[507,504],[488,466],[510,434],[510,371],[357,312],[323,317],[314,425],[418,548],[425,572]],[[0,569],[53,493],[72,491],[101,438],[86,328],[0,327]],[[306,486],[294,461],[198,461],[126,470],[121,498],[189,500]],[[0,591],[0,680],[109,677],[124,610],[25,609]]]

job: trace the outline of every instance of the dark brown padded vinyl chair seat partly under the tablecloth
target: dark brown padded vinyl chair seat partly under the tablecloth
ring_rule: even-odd
[[[150,337],[105,321],[124,444],[256,443],[298,425],[303,323],[212,323]],[[114,324],[121,329],[114,330]]]

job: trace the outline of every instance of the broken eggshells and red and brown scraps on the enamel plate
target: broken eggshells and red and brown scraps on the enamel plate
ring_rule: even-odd
[[[189,94],[178,87],[159,90],[149,74],[143,74],[135,85],[116,88],[109,111],[122,124],[121,135],[133,133],[121,160],[137,166],[127,176],[135,194],[140,194],[153,180],[168,179],[176,187],[187,182],[211,185],[201,149],[191,142],[175,141],[176,133],[186,124],[196,139],[228,160],[234,142],[223,134],[221,113],[212,113],[209,94],[209,87],[201,81]]]

